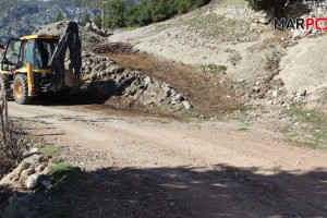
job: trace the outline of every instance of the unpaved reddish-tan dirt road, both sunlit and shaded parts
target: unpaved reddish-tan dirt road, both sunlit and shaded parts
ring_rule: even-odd
[[[261,126],[243,132],[239,122],[185,123],[90,106],[9,107],[31,123],[29,133],[64,146],[70,161],[102,178],[93,186],[98,194],[86,196],[101,206],[87,207],[89,216],[80,207],[82,217],[327,217],[327,154],[284,145]],[[129,186],[107,193],[117,177]],[[135,194],[142,191],[154,195]]]

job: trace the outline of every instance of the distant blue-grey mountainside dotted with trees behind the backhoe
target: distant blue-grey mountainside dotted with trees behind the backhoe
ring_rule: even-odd
[[[15,2],[15,1],[14,1]],[[82,14],[96,14],[90,8],[80,7],[74,1],[20,1],[8,4],[0,0],[0,44],[9,37],[31,34],[35,28],[49,24],[58,12],[69,20],[78,20]]]

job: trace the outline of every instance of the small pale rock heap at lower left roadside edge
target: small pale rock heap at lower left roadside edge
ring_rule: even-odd
[[[37,148],[32,148],[25,152],[23,161],[0,181],[0,185],[29,190],[45,185],[49,189],[51,184],[45,180],[47,173],[48,160],[38,153]]]

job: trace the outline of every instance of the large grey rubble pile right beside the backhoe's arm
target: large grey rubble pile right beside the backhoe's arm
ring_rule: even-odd
[[[85,52],[83,58],[83,81],[87,92],[108,99],[107,104],[117,108],[141,106],[147,110],[161,112],[191,109],[187,97],[175,90],[171,85],[146,76],[138,71],[123,69],[114,61]]]

